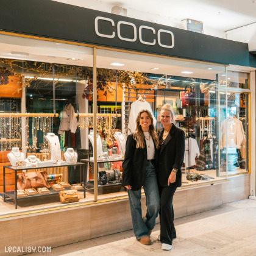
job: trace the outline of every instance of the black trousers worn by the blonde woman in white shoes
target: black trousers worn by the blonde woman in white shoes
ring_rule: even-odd
[[[176,188],[160,187],[160,241],[163,244],[172,244],[172,240],[176,238],[176,230],[174,227],[174,212],[172,199]]]

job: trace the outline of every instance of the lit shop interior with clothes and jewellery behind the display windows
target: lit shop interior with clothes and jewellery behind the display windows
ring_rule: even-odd
[[[69,185],[62,190],[77,188],[80,200],[66,205],[95,201],[93,49],[40,43],[0,44],[0,195],[5,190],[7,196],[5,202],[0,199],[1,215],[63,205],[59,192],[38,196],[24,191],[15,210],[15,169],[19,177],[46,172],[50,191],[61,182]],[[127,197],[121,165],[126,137],[135,130],[131,116],[138,113],[137,102],[153,113],[157,131],[162,105],[171,104],[175,125],[185,133],[179,190],[249,172],[249,73],[110,49],[97,49],[96,55],[98,201]],[[85,172],[76,166],[79,162]],[[6,165],[12,166],[4,174]]]

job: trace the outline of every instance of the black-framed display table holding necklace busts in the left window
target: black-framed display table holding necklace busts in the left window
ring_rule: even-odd
[[[41,197],[41,196],[49,196],[51,194],[58,194],[59,191],[55,191],[50,189],[50,193],[48,194],[34,194],[31,196],[25,196],[25,197],[17,197],[17,193],[16,191],[17,189],[17,171],[26,171],[26,170],[37,170],[37,169],[48,169],[48,168],[58,168],[60,166],[80,166],[80,172],[82,172],[82,170],[84,171],[84,180],[87,177],[87,169],[85,168],[85,163],[67,163],[66,165],[53,165],[53,166],[44,166],[44,167],[29,167],[29,168],[25,168],[25,167],[16,167],[16,166],[12,166],[12,165],[4,165],[3,166],[3,178],[4,178],[4,202],[6,201],[6,196],[10,197],[11,199],[13,199],[15,201],[15,209],[17,208],[17,202],[20,199],[29,199],[31,197]],[[5,169],[11,169],[13,171],[15,171],[15,190],[13,191],[5,191]],[[82,177],[82,176],[80,176]],[[82,185],[82,180],[80,180],[80,184]],[[70,190],[70,188],[65,188],[65,190]],[[84,198],[86,197],[85,195],[85,186],[84,186]],[[9,199],[9,198],[8,198]]]

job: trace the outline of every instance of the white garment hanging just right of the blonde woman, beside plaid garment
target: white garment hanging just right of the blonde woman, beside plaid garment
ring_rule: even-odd
[[[185,155],[183,163],[186,167],[196,165],[196,157],[199,157],[200,151],[197,142],[194,138],[188,138],[185,140]]]

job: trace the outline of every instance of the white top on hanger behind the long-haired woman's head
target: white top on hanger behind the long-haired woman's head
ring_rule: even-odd
[[[152,112],[152,108],[151,105],[149,104],[149,102],[146,101],[135,101],[132,103],[131,107],[130,107],[130,116],[129,116],[129,123],[128,123],[128,134],[135,132],[136,130],[136,118],[138,116],[138,113],[143,110],[149,110],[149,112],[151,113],[152,117],[153,117],[153,122],[154,122],[154,126],[157,124],[157,119],[155,119],[155,116]]]

